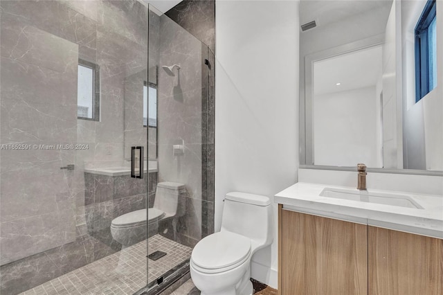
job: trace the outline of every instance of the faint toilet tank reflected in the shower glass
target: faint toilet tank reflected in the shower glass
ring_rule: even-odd
[[[181,216],[185,212],[186,187],[178,182],[164,181],[157,184],[154,208],[168,216]]]

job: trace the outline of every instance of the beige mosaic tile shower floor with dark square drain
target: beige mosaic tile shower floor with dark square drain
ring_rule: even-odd
[[[166,271],[190,258],[192,249],[177,242],[154,235],[149,239],[149,252],[163,251],[167,255],[150,260],[146,269],[146,242],[139,242],[110,256],[97,260],[29,289],[21,294],[37,295],[85,295],[85,294],[134,294]]]

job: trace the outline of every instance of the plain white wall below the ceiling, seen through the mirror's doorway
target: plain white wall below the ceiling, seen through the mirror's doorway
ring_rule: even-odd
[[[375,98],[375,86],[314,96],[315,165],[379,167]]]

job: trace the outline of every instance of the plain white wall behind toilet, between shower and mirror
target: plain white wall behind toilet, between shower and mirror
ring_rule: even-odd
[[[297,181],[298,1],[216,2],[215,231],[224,195],[267,195]],[[277,287],[274,242],[252,276]]]

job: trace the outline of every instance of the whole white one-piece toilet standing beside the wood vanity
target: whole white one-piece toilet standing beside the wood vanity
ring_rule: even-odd
[[[272,241],[269,198],[228,193],[221,231],[202,239],[192,251],[192,281],[201,295],[251,295],[251,257]]]

